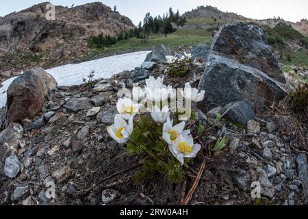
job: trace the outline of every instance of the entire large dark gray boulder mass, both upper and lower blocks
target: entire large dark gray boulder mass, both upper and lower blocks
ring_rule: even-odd
[[[199,107],[207,112],[218,105],[248,101],[259,114],[266,110],[268,101],[287,95],[278,79],[284,81],[263,31],[244,23],[224,25],[212,44],[198,86],[206,95]]]

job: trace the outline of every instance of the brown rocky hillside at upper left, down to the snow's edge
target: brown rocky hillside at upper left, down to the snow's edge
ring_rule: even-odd
[[[89,36],[116,36],[135,27],[129,18],[99,2],[75,8],[56,6],[55,21],[47,21],[47,4],[0,19],[1,78],[18,73],[23,65],[34,66],[38,60],[44,65],[81,58],[88,52]]]

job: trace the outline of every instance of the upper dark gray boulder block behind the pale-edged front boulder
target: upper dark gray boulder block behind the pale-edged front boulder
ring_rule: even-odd
[[[212,51],[257,68],[285,83],[282,68],[267,44],[264,32],[257,25],[242,22],[224,25],[213,40]]]

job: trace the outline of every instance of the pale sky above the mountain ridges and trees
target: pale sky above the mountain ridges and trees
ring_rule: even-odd
[[[0,0],[0,16],[14,11],[23,10],[44,0]],[[93,0],[95,1],[95,0]],[[81,5],[92,1],[88,0],[51,0],[54,5]],[[280,16],[286,21],[300,21],[308,18],[307,0],[103,0],[105,5],[113,8],[117,6],[118,12],[131,18],[136,25],[143,20],[146,12],[153,15],[163,14],[172,7],[179,9],[183,14],[199,5],[212,5],[219,10],[235,12],[248,18],[265,19]]]

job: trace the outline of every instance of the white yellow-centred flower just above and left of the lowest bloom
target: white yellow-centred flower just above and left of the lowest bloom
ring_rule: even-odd
[[[163,127],[163,135],[162,138],[168,143],[173,144],[177,141],[179,136],[188,136],[190,134],[190,130],[184,130],[185,122],[179,123],[173,126],[173,120],[170,118],[167,119],[167,122]]]

